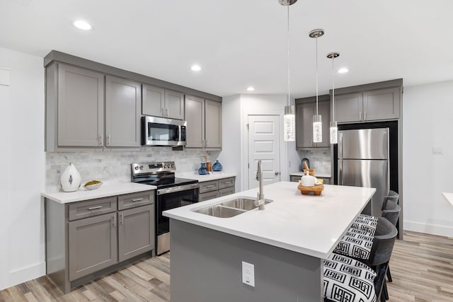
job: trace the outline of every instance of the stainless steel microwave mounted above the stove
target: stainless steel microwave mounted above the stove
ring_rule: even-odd
[[[142,145],[185,146],[186,121],[142,117]]]

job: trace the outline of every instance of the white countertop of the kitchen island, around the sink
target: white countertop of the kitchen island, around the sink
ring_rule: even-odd
[[[233,197],[256,198],[258,188],[164,211],[164,216],[248,238],[268,245],[326,258],[376,189],[324,185],[321,196],[302,195],[297,183],[277,182],[263,188],[273,202],[230,218],[191,211]]]

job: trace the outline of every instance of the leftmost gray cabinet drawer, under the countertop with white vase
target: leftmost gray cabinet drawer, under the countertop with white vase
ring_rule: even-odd
[[[69,204],[69,220],[81,219],[116,211],[117,197],[91,199]]]

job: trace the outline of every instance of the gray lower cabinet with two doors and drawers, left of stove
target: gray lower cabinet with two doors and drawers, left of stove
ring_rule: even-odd
[[[46,274],[62,291],[154,255],[154,191],[59,204],[45,199]]]

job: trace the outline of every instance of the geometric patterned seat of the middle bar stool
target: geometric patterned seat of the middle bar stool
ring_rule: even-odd
[[[363,235],[362,230],[350,228],[333,252],[355,259],[369,259],[373,237]]]

